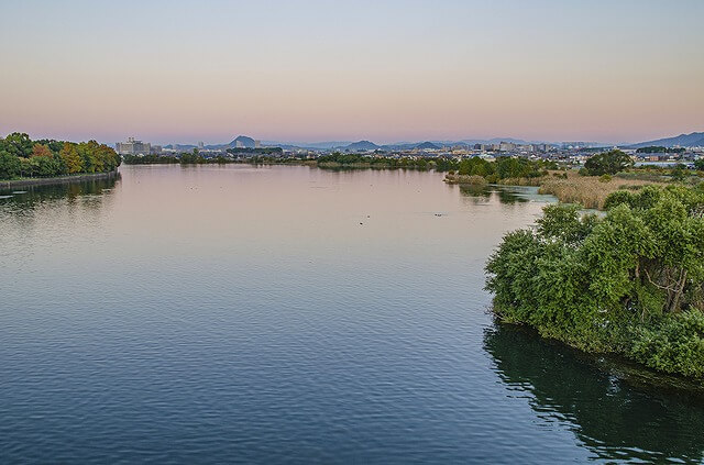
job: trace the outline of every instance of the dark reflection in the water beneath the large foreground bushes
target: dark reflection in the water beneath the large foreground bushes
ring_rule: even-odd
[[[510,325],[487,330],[484,348],[502,380],[531,394],[541,417],[572,423],[604,460],[689,463],[704,458],[704,405],[696,397],[636,389],[580,354]]]

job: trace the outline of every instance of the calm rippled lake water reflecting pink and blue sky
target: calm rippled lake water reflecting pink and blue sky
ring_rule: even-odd
[[[698,397],[493,323],[484,262],[551,200],[441,179],[0,192],[0,463],[702,462]]]

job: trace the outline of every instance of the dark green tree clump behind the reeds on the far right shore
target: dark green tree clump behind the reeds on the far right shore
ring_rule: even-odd
[[[460,162],[458,174],[461,176],[482,176],[488,182],[498,182],[509,178],[537,178],[547,175],[547,169],[556,169],[554,162],[530,160],[502,156],[488,162],[479,156]]]

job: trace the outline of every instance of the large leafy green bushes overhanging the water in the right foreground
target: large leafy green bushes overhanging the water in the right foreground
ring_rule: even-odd
[[[487,265],[496,314],[579,348],[704,377],[704,193],[617,191],[607,213],[550,206]]]

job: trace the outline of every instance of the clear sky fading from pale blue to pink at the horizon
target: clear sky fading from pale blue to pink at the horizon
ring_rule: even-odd
[[[0,1],[0,134],[152,143],[704,131],[702,0]]]

